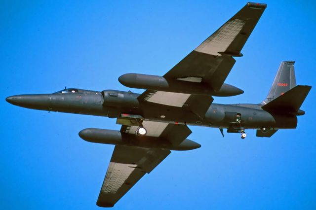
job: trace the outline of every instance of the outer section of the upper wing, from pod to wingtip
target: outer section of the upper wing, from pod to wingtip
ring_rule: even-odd
[[[215,91],[223,85],[266,4],[247,3],[214,34],[169,70],[163,77],[207,83]]]

